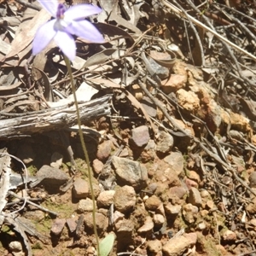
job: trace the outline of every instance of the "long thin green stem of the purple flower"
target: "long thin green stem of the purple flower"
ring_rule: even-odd
[[[66,55],[64,55],[64,60],[66,62],[67,65],[67,71],[70,77],[70,82],[71,82],[71,87],[72,87],[72,91],[73,91],[73,99],[74,99],[74,103],[76,106],[76,111],[77,111],[77,116],[78,116],[78,125],[79,125],[79,137],[80,137],[80,142],[82,144],[82,148],[84,151],[84,157],[86,160],[86,164],[87,164],[87,168],[88,168],[88,178],[89,178],[89,184],[90,184],[90,193],[91,193],[91,200],[92,200],[92,205],[93,205],[93,210],[92,210],[92,221],[93,221],[93,230],[94,230],[94,234],[96,236],[96,249],[97,249],[97,255],[101,255],[100,252],[100,244],[99,244],[99,236],[97,233],[97,229],[96,229],[96,200],[95,200],[95,196],[94,196],[94,192],[93,192],[93,185],[92,185],[92,173],[91,173],[91,169],[90,169],[90,161],[89,161],[89,156],[88,156],[88,152],[84,143],[84,135],[83,135],[83,131],[81,128],[81,119],[80,119],[80,113],[79,113],[79,103],[77,100],[77,96],[76,96],[76,90],[75,90],[75,86],[73,84],[73,73],[71,70],[71,65],[70,65],[70,61],[67,58]]]

